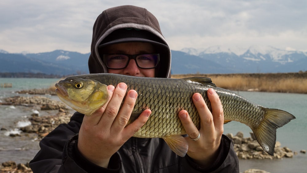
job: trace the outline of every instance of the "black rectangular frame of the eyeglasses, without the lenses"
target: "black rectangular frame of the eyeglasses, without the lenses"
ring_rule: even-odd
[[[105,58],[106,55],[125,55],[125,56],[127,56],[127,57],[128,57],[128,61],[127,61],[126,66],[123,67],[123,68],[120,68],[120,69],[125,69],[125,68],[128,66],[130,60],[132,60],[132,59],[135,61],[135,64],[136,64],[136,65],[138,66],[138,68],[140,68],[140,69],[154,69],[154,68],[157,67],[157,65],[159,64],[159,61],[160,61],[160,54],[159,54],[159,53],[139,53],[139,54],[135,54],[135,55],[129,55],[129,54],[125,54],[125,53],[110,53],[110,54],[103,54],[103,62],[104,62],[104,64],[107,66],[108,69],[114,69],[114,70],[120,70],[120,69],[118,69],[118,68],[110,68],[110,67],[107,65],[107,60],[106,60],[106,58]],[[138,65],[138,61],[136,60],[136,57],[138,57],[139,55],[156,55],[156,56],[157,56],[157,63],[156,63],[156,65],[155,65],[154,67],[150,67],[150,68],[142,68],[142,67],[140,67],[140,66]]]

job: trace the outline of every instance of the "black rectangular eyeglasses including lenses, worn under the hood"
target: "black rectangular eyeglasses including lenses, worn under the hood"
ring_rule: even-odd
[[[108,69],[124,69],[128,66],[131,59],[135,60],[138,68],[153,69],[158,65],[160,55],[155,53],[142,53],[136,55],[119,53],[103,54],[103,61]]]

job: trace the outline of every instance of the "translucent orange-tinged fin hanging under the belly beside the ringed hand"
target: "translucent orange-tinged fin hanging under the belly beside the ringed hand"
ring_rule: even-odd
[[[184,157],[188,152],[188,143],[185,138],[181,135],[170,135],[163,138],[166,144],[173,150],[177,155]]]

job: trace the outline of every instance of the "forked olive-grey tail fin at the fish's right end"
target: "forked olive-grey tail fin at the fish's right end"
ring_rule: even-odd
[[[266,114],[259,126],[251,129],[263,150],[269,155],[274,155],[276,129],[295,119],[295,116],[279,109],[265,108],[265,110]]]

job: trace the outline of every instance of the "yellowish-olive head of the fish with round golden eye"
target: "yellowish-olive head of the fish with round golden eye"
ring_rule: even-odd
[[[107,85],[92,79],[68,77],[55,87],[61,101],[85,115],[91,115],[109,99]]]

